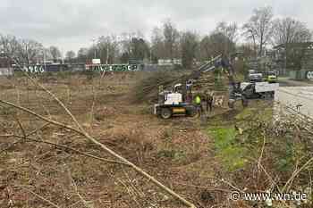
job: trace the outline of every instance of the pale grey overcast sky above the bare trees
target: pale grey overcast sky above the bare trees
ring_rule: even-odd
[[[248,21],[254,8],[271,5],[313,29],[312,0],[1,0],[0,34],[27,37],[68,50],[90,46],[93,37],[136,32],[146,37],[170,18],[178,29],[205,35],[218,21]]]

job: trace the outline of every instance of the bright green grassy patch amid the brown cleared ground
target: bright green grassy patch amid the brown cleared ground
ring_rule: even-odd
[[[272,113],[271,108],[248,107],[216,115],[210,120],[207,134],[214,139],[216,157],[226,171],[244,169],[248,159],[257,156],[263,137],[261,132],[250,131],[250,122],[271,121]]]

